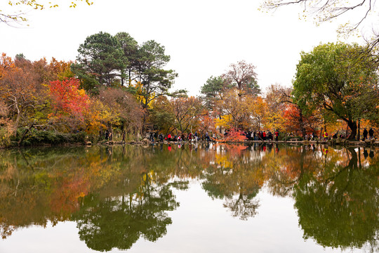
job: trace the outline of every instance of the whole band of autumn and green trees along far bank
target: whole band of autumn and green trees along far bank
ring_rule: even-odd
[[[236,139],[225,131],[241,133],[239,141],[254,131],[279,131],[280,139],[324,131],[356,138],[359,123],[362,129],[379,123],[378,63],[362,51],[356,44],[321,44],[301,54],[293,87],[272,84],[264,94],[255,66],[241,60],[210,77],[199,97],[173,91],[178,74],[166,70],[164,46],[138,44],[126,32],[88,36],[74,63],[3,53],[0,145],[44,143],[27,141],[44,136],[38,131],[84,133],[87,141],[141,139],[152,132],[156,138],[208,133],[219,141]],[[46,136],[45,143],[58,141]]]

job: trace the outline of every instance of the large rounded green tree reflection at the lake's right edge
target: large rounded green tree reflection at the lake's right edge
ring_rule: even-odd
[[[378,167],[359,169],[356,151],[348,150],[347,164],[326,162],[294,188],[304,237],[324,246],[362,247],[375,242],[379,228]]]

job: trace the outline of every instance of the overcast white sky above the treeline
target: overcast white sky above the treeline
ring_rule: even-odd
[[[3,0],[4,1],[4,0]],[[199,94],[208,77],[246,60],[256,66],[258,84],[291,85],[301,51],[337,41],[337,22],[317,27],[299,20],[300,7],[258,11],[258,0],[93,0],[93,6],[30,11],[29,27],[0,23],[0,52],[29,60],[75,60],[86,37],[97,32],[128,32],[138,41],[154,39],[178,72],[174,89]],[[6,1],[4,1],[5,4]],[[1,6],[0,6],[1,7]]]

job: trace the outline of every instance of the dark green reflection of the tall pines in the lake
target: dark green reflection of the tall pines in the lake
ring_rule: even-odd
[[[170,186],[154,184],[149,174],[143,174],[138,193],[105,200],[88,195],[73,217],[81,240],[91,249],[129,249],[141,236],[155,241],[165,235],[171,224],[165,211],[178,205]]]

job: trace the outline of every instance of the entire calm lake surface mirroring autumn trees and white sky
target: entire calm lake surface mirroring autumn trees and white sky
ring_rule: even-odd
[[[379,150],[0,150],[0,252],[379,252]]]

